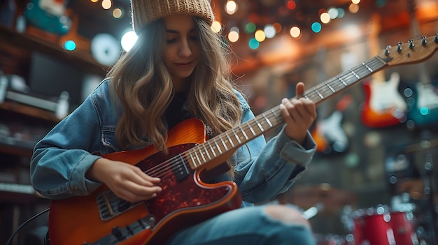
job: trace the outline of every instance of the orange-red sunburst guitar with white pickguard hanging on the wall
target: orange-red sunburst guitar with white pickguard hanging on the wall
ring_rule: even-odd
[[[369,22],[369,50],[379,50],[380,15],[374,14]],[[370,128],[395,126],[406,121],[407,103],[398,91],[400,75],[392,73],[386,81],[383,70],[363,82],[365,101],[361,107],[361,121]]]

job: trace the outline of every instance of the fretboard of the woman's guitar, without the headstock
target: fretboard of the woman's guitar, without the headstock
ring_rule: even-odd
[[[388,65],[381,57],[376,56],[362,64],[346,70],[335,77],[306,90],[301,96],[295,98],[307,98],[317,105],[343,91],[363,78],[381,70]],[[216,158],[230,156],[236,149],[250,140],[257,138],[263,133],[276,128],[284,123],[280,107],[276,107],[259,114],[254,119],[244,122],[229,131],[221,133],[203,144],[192,147],[183,158],[188,161],[192,169],[197,169],[206,163],[215,161]]]

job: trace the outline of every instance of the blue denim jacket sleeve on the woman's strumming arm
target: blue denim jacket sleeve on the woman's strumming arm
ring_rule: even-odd
[[[105,113],[98,113],[96,99],[108,96],[106,89],[107,86],[97,87],[34,147],[31,184],[41,195],[51,199],[87,195],[101,185],[86,179],[85,172],[101,157],[99,155],[106,153],[102,143],[105,133],[102,115]],[[108,103],[108,106],[111,105]]]

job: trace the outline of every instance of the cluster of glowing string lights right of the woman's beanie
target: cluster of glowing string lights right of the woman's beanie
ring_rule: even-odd
[[[222,31],[222,34],[231,43],[247,41],[248,47],[254,50],[259,48],[260,43],[264,40],[274,38],[283,30],[287,30],[290,37],[296,39],[301,38],[303,31],[307,29],[311,30],[313,34],[318,34],[324,29],[324,25],[344,17],[346,10],[349,13],[358,13],[359,3],[360,0],[351,0],[351,3],[342,7],[319,8],[316,13],[311,14],[316,16],[314,20],[309,21],[309,16],[303,17],[303,14],[297,11],[300,7],[299,1],[288,0],[276,10],[276,13],[272,13],[272,11],[269,13],[267,10],[255,10],[255,13],[246,14],[248,17],[245,22],[235,24],[238,23],[234,20],[234,16],[239,14],[239,1],[227,0],[224,6],[224,13],[227,15],[224,18],[224,23],[216,22],[214,24],[216,27],[212,27],[212,29],[216,32]],[[240,8],[240,10],[244,11],[243,8]],[[263,15],[262,13],[269,16],[260,16]],[[263,22],[260,20],[272,21]],[[243,35],[239,31],[241,29],[246,34],[245,38],[241,36]]]

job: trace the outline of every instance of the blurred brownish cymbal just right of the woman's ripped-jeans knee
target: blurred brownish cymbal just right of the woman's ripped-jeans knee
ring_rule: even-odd
[[[352,205],[358,201],[358,195],[339,188],[333,188],[330,184],[317,186],[297,186],[290,190],[288,199],[290,202],[303,209],[323,204],[322,211],[337,211],[345,205]]]

